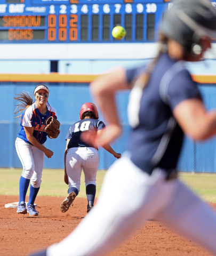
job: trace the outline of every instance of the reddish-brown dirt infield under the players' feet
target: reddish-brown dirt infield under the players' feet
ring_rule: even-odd
[[[27,198],[28,199],[28,198]],[[86,215],[87,199],[77,197],[65,214],[59,210],[63,197],[38,196],[38,217],[16,213],[6,203],[19,201],[18,196],[0,196],[0,255],[23,256],[65,238]],[[212,204],[216,209],[216,204]],[[73,246],[73,245],[72,245]],[[109,256],[196,255],[210,256],[201,247],[180,237],[158,221],[147,221],[137,233]]]

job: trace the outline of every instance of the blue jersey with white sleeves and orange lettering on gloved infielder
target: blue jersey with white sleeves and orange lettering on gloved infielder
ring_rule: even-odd
[[[33,103],[31,106],[27,106],[22,113],[20,130],[17,135],[18,138],[31,144],[26,138],[26,132],[24,127],[34,127],[33,136],[43,144],[46,141],[47,133],[44,131],[46,127],[46,119],[50,116],[57,118],[56,110],[47,103],[47,113],[42,115],[37,108],[37,103]]]

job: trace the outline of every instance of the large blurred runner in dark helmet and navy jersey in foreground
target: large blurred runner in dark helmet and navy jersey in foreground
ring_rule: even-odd
[[[36,255],[104,255],[152,218],[216,255],[216,214],[175,171],[183,133],[195,140],[216,133],[216,111],[205,110],[197,84],[184,67],[185,60],[203,57],[214,34],[216,11],[209,1],[177,0],[164,16],[161,50],[153,63],[118,69],[92,84],[110,123],[106,134],[96,138],[98,143],[121,133],[115,92],[134,85],[129,151],[110,167],[90,214],[67,238]]]

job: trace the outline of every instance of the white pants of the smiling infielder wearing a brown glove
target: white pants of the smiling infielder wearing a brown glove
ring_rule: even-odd
[[[31,179],[31,186],[39,188],[44,166],[43,151],[20,138],[16,139],[15,147],[23,167],[22,177]]]

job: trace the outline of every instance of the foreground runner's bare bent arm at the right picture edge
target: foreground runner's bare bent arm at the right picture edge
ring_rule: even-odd
[[[206,111],[199,99],[180,102],[173,114],[182,130],[195,140],[205,140],[216,133],[216,111]]]

